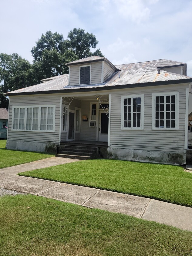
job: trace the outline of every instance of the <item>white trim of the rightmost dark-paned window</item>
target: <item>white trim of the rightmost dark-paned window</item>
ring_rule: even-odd
[[[175,96],[175,127],[155,127],[156,96]],[[164,123],[166,124],[166,104],[164,104]],[[166,125],[165,125],[166,126]],[[152,93],[152,130],[179,130],[179,92]]]

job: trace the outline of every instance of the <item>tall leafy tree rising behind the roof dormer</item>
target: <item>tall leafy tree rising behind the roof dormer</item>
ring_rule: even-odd
[[[57,32],[42,34],[31,50],[36,81],[40,83],[41,79],[67,74],[67,62],[93,55],[103,56],[100,49],[93,53],[90,50],[96,48],[97,43],[95,35],[85,33],[84,29],[71,30],[66,40]]]

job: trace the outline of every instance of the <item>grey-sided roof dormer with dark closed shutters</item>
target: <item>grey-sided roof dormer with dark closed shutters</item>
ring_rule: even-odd
[[[91,56],[66,63],[69,67],[69,85],[104,83],[109,76],[118,71],[105,57]]]

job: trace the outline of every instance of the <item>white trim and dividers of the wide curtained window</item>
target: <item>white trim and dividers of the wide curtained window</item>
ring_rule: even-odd
[[[40,125],[41,125],[41,108],[42,107],[53,107],[53,130],[47,130],[47,119],[48,115],[46,116],[46,130],[40,130]],[[24,129],[13,129],[13,120],[14,120],[14,109],[19,108],[19,113],[20,113],[20,108],[25,108],[25,114],[24,114]],[[26,129],[26,124],[27,124],[27,108],[39,108],[38,109],[38,129],[37,130],[27,130]],[[12,106],[12,126],[11,130],[12,131],[25,131],[25,132],[45,132],[45,133],[54,133],[55,132],[55,112],[56,112],[56,105],[23,105],[23,106]],[[33,119],[33,113],[32,113],[32,119]],[[31,126],[32,127],[32,126]],[[19,128],[19,118],[18,118],[18,128]]]

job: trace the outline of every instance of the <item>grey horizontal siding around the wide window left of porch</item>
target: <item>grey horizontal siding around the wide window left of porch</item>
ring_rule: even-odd
[[[56,105],[55,132],[35,132],[35,131],[12,131],[12,106],[39,106]],[[60,122],[60,96],[53,94],[10,96],[8,140],[30,141],[42,143],[59,143],[59,122]]]

